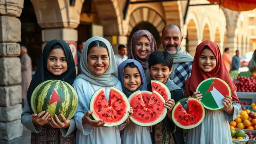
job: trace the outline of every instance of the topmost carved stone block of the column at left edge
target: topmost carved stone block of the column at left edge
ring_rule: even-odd
[[[24,0],[0,0],[0,14],[20,16]]]

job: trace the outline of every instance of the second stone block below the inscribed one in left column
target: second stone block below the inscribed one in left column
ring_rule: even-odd
[[[0,106],[13,106],[22,102],[21,86],[0,87]]]

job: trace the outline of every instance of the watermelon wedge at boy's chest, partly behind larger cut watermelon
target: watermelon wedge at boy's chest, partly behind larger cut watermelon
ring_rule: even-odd
[[[152,92],[155,90],[156,92],[161,94],[165,101],[172,98],[169,88],[162,82],[159,82],[157,80],[151,80],[151,87]]]

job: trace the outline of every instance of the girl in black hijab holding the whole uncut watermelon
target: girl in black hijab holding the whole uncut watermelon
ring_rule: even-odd
[[[76,124],[74,119],[54,122],[48,112],[33,114],[30,99],[34,89],[46,80],[62,80],[73,84],[76,78],[76,68],[72,52],[68,44],[62,40],[52,40],[44,46],[42,57],[36,73],[28,88],[26,102],[21,114],[21,122],[32,131],[31,143],[74,144]],[[43,115],[43,116],[42,116]],[[41,117],[42,116],[42,117]],[[62,115],[63,116],[63,115]],[[40,118],[41,117],[41,118]],[[46,124],[47,122],[50,123]],[[66,143],[68,142],[68,143]]]

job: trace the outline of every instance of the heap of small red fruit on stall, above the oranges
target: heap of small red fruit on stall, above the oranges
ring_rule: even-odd
[[[238,76],[233,82],[238,92],[256,92],[256,78]]]

